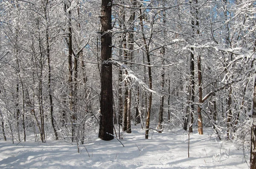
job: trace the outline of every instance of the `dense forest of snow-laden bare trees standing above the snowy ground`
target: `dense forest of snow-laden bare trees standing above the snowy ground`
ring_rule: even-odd
[[[255,0],[0,0],[0,141],[207,130],[256,169],[255,52]]]

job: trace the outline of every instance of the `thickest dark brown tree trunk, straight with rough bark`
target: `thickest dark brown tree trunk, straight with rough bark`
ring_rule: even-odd
[[[112,65],[108,62],[112,54],[111,0],[102,0],[101,9],[101,101],[99,138],[108,141],[113,139],[113,91]]]

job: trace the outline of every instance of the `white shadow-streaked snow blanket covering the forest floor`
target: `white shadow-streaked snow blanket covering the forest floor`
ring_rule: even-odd
[[[209,130],[204,135],[177,132],[155,132],[144,139],[141,129],[125,134],[122,144],[116,139],[79,145],[65,141],[47,140],[18,142],[0,140],[1,169],[247,169],[242,149],[230,142],[216,141]],[[152,138],[152,139],[151,139]],[[10,139],[9,139],[10,140]],[[87,151],[86,151],[86,149]],[[140,151],[140,150],[141,151]],[[90,157],[89,157],[90,155]],[[246,152],[247,158],[249,152]],[[247,159],[248,161],[249,159]]]

